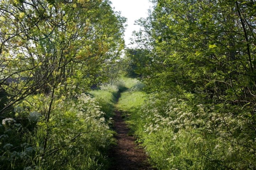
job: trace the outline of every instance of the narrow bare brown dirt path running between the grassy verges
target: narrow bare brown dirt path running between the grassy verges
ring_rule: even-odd
[[[134,142],[133,136],[128,136],[129,128],[122,119],[122,112],[115,111],[114,130],[117,132],[117,146],[111,150],[113,165],[110,170],[152,170],[146,163],[147,157],[142,148]]]

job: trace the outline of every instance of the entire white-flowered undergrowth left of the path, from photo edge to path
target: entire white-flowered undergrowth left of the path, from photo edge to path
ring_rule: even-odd
[[[49,97],[27,100],[30,104],[22,102],[14,108],[16,119],[5,118],[0,125],[0,169],[106,168],[105,152],[115,141],[92,96],[56,98],[49,122],[45,118]],[[48,144],[43,148],[46,136]]]

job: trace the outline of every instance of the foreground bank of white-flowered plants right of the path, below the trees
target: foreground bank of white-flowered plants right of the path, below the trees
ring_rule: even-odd
[[[158,169],[255,169],[254,121],[241,114],[246,110],[196,102],[155,93],[133,116]]]

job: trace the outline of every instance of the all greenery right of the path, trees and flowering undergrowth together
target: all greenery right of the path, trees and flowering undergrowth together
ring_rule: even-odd
[[[153,3],[134,34],[140,53],[127,55],[153,93],[135,123],[151,160],[166,170],[255,169],[255,1]]]

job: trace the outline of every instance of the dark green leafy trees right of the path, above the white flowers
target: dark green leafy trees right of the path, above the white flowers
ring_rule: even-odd
[[[228,152],[226,147],[236,148],[225,160],[221,154],[216,156],[222,162],[220,166],[236,169],[240,159],[254,159],[255,2],[154,0],[153,3],[149,17],[138,21],[144,29],[134,34],[135,43],[149,51],[145,60],[148,68],[140,68],[149,91],[174,93],[186,100],[188,109],[198,109],[197,105],[203,104],[209,115],[216,112],[218,119],[224,119],[222,123],[214,120],[215,125],[208,126],[215,132],[215,138],[228,143],[223,147],[225,152]],[[202,119],[207,122],[211,117]],[[243,130],[234,130],[239,122],[244,122]],[[239,142],[242,139],[247,142]],[[250,149],[254,151],[249,152]],[[236,158],[231,158],[235,155]],[[215,155],[205,157],[217,159]],[[246,161],[243,166],[255,166],[252,164]]]

